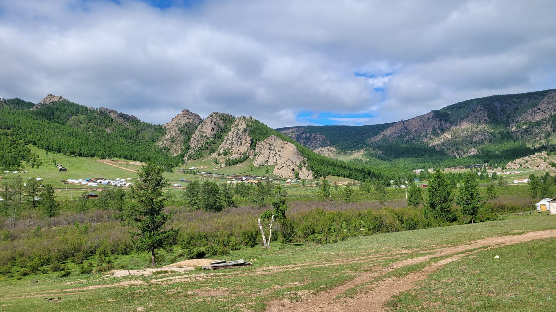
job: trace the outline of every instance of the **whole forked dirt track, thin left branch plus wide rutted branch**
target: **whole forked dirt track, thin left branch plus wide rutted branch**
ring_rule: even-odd
[[[468,251],[464,254],[458,254],[461,252],[465,252],[470,249],[485,247],[485,246],[503,246],[503,245],[510,245],[510,244],[517,244],[523,243],[525,241],[534,240],[534,239],[544,239],[544,238],[556,238],[556,229],[554,230],[543,230],[538,232],[529,232],[520,235],[508,235],[508,236],[499,236],[494,238],[486,238],[475,240],[470,244],[465,245],[457,245],[457,246],[448,246],[442,247],[438,249],[432,250],[434,254],[430,255],[422,255],[416,256],[415,258],[400,260],[395,263],[392,263],[390,266],[384,268],[382,266],[374,266],[373,270],[364,272],[356,276],[353,280],[348,281],[345,284],[337,286],[334,289],[323,291],[322,293],[316,295],[302,295],[304,298],[301,301],[291,302],[289,299],[281,299],[275,300],[268,303],[269,311],[337,311],[337,310],[344,310],[344,311],[383,311],[383,304],[388,301],[391,296],[399,294],[403,291],[409,290],[413,288],[413,285],[416,281],[425,279],[426,275],[430,274],[434,270],[441,268],[444,264],[450,263],[451,261],[457,260],[463,256],[476,253],[477,251]],[[484,250],[484,249],[483,249]],[[0,300],[5,299],[13,299],[13,298],[28,298],[34,296],[41,296],[41,295],[48,295],[52,296],[53,294],[73,294],[76,291],[92,291],[102,288],[108,287],[118,287],[118,286],[140,286],[140,285],[164,285],[167,283],[178,283],[178,282],[188,282],[188,281],[197,281],[197,280],[206,280],[212,278],[228,278],[230,276],[241,276],[241,275],[263,275],[274,273],[276,271],[289,271],[289,270],[299,270],[305,268],[311,268],[316,266],[331,266],[331,265],[341,265],[345,263],[369,263],[372,265],[373,262],[380,261],[381,259],[388,259],[388,258],[398,258],[403,256],[404,254],[408,254],[412,250],[400,250],[394,251],[392,253],[383,253],[383,254],[376,254],[376,255],[369,255],[369,256],[362,256],[356,257],[351,259],[341,259],[341,260],[332,260],[328,263],[304,263],[304,264],[291,264],[291,265],[284,265],[284,266],[267,266],[264,268],[256,268],[254,270],[248,271],[231,271],[229,274],[227,273],[205,273],[205,274],[187,274],[187,275],[178,275],[178,276],[169,276],[167,278],[160,278],[154,279],[149,281],[142,281],[142,280],[134,280],[134,281],[122,281],[119,283],[112,283],[112,284],[101,284],[101,285],[91,285],[85,286],[81,288],[71,288],[71,289],[52,289],[52,290],[45,290],[45,291],[36,291],[33,293],[24,293],[24,294],[17,294],[17,295],[8,295],[4,298],[0,298]],[[420,250],[413,250],[416,254],[423,254],[423,253],[430,253],[430,249],[420,249]],[[449,258],[443,259],[436,263],[430,264],[425,266],[425,268],[421,271],[410,273],[409,275],[405,276],[401,279],[386,279],[380,281],[378,284],[373,286],[373,289],[368,291],[367,294],[358,294],[355,299],[342,299],[342,301],[336,300],[337,295],[343,294],[346,290],[354,288],[363,283],[367,283],[369,281],[378,278],[379,276],[393,271],[395,269],[403,268],[407,265],[423,263],[424,261],[430,260],[436,256],[448,256],[452,255]],[[127,273],[127,272],[126,272]],[[321,307],[322,306],[322,307]]]

